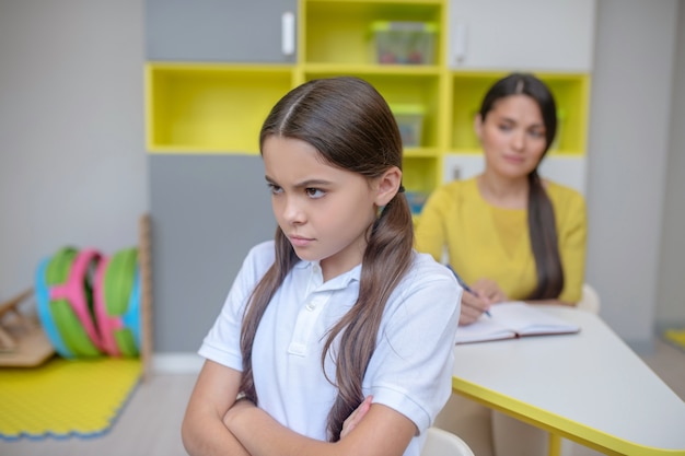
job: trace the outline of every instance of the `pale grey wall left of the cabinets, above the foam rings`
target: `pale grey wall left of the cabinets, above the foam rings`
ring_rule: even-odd
[[[141,0],[0,0],[0,300],[59,247],[136,245]]]

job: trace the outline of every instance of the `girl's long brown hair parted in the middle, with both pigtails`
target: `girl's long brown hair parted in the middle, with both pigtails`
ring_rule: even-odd
[[[402,139],[395,118],[379,92],[361,79],[320,79],[293,89],[266,118],[259,136],[260,148],[274,136],[305,141],[328,165],[369,179],[380,177],[392,166],[402,169]],[[381,317],[391,293],[409,269],[413,245],[411,212],[406,198],[398,192],[370,226],[359,296],[330,328],[322,352],[322,369],[327,356],[336,364],[335,379],[328,378],[338,388],[327,421],[332,442],[339,440],[342,422],[363,400],[362,378],[375,349]],[[298,261],[290,242],[278,227],[276,260],[251,296],[241,331],[240,390],[255,404],[252,371],[255,332],[271,297]]]

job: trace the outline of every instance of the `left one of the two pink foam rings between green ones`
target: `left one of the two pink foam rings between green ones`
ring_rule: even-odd
[[[92,262],[100,262],[102,255],[100,252],[88,248],[79,252],[74,258],[69,278],[66,283],[55,284],[50,288],[50,300],[66,300],[71,309],[79,318],[81,326],[85,329],[85,334],[91,342],[100,350],[103,350],[102,338],[95,323],[91,316],[88,299],[85,296],[84,281],[88,279],[89,267]]]

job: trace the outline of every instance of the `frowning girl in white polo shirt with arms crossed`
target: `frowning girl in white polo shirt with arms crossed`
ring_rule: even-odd
[[[259,140],[276,238],[249,252],[199,350],[186,449],[419,455],[451,391],[461,289],[413,250],[387,104],[360,79],[311,81]]]

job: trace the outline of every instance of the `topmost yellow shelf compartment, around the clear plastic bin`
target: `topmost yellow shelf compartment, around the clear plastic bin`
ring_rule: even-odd
[[[300,51],[305,62],[372,63],[375,61],[375,45],[371,24],[375,21],[411,21],[430,22],[439,27],[434,39],[434,63],[442,63],[443,0],[309,0],[304,3],[305,30]]]

